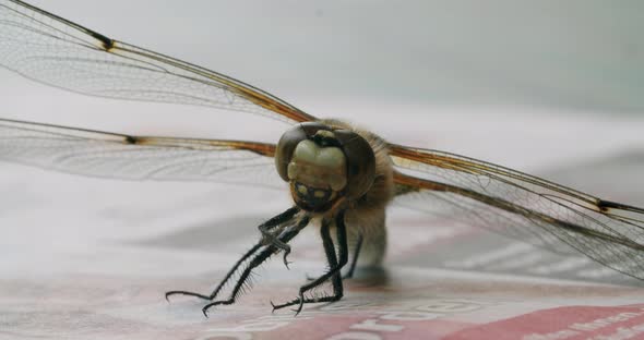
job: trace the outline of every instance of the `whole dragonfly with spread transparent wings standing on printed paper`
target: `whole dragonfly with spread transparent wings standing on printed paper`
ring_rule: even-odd
[[[644,209],[582,193],[490,162],[390,143],[319,119],[222,73],[134,45],[20,0],[0,0],[0,65],[79,94],[183,104],[281,120],[277,144],[139,136],[0,119],[0,160],[131,181],[236,182],[288,189],[293,206],[259,226],[260,239],[211,293],[203,313],[235,303],[252,271],[319,228],[329,269],[274,309],[335,302],[357,266],[380,266],[391,205],[432,214],[588,258],[644,280]],[[271,179],[272,182],[267,182]],[[227,298],[226,283],[232,282]],[[314,290],[330,284],[331,292]]]

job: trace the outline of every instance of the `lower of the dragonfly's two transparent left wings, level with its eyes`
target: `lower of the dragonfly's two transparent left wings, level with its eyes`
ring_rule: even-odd
[[[99,178],[283,187],[275,146],[144,137],[0,119],[0,160]]]

